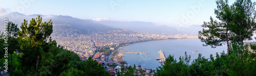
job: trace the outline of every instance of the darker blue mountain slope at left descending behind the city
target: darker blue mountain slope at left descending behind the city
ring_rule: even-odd
[[[1,16],[0,19],[4,20],[4,18],[9,18],[9,21],[18,24],[18,27],[22,24],[24,19],[28,20],[28,22],[31,20],[31,18],[36,18],[37,15],[40,14],[34,14],[26,16],[24,14],[20,14],[17,12],[10,13],[5,16]],[[14,17],[15,16],[15,17]],[[56,16],[56,15],[41,15],[42,22],[49,21],[50,19],[53,22],[54,28],[63,28],[63,29],[74,29],[83,31],[84,34],[88,34],[90,32],[107,32],[109,30],[113,30],[114,28],[111,28],[109,26],[100,24],[100,23],[94,23],[87,20],[82,20],[78,18],[73,18],[71,16]],[[4,21],[0,21],[1,24],[4,24]],[[3,31],[3,27],[0,27],[0,30]],[[72,30],[71,30],[72,31]]]

